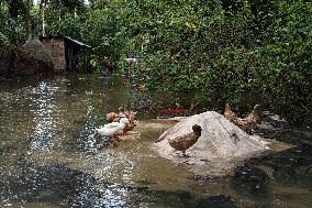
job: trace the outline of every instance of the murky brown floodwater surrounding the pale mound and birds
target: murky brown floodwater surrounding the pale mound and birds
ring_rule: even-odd
[[[229,176],[205,177],[157,154],[153,142],[164,128],[136,129],[134,139],[115,147],[94,135],[107,112],[144,102],[118,77],[68,74],[5,83],[0,89],[0,207],[312,205],[309,129],[267,119],[274,128],[257,133],[293,147],[248,160]],[[140,122],[148,118],[138,112]]]

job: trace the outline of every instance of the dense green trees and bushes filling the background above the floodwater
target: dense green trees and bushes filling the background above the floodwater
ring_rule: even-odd
[[[191,108],[261,102],[289,121],[311,118],[311,2],[46,2],[48,35],[70,35],[83,41],[93,46],[96,56],[110,57],[121,69],[129,68],[125,57],[140,57],[130,76],[133,86],[144,85],[153,92],[188,95]],[[32,10],[37,25],[41,10]],[[1,21],[7,24],[1,25],[9,25],[2,19],[8,11],[2,3]],[[20,25],[19,34],[25,34]],[[10,36],[7,28],[1,28],[0,40]]]

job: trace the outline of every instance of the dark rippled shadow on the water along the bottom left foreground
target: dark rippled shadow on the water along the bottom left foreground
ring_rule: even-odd
[[[20,176],[0,175],[1,199],[7,206],[37,202],[59,207],[235,207],[224,195],[197,198],[185,190],[149,190],[96,178],[63,165],[35,166],[20,158],[18,168]]]

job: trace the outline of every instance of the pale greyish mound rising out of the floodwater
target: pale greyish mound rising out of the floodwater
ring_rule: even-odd
[[[169,145],[168,139],[191,132],[193,124],[201,125],[202,134],[198,142],[187,150],[187,155],[190,157],[183,157]],[[200,165],[209,162],[218,162],[216,166],[220,167],[222,163],[222,168],[226,169],[230,163],[243,161],[268,149],[267,142],[261,138],[248,135],[222,114],[214,111],[183,119],[165,131],[158,141],[155,145],[160,156],[177,163],[194,165],[193,167],[200,167]],[[203,169],[201,168],[201,171]]]

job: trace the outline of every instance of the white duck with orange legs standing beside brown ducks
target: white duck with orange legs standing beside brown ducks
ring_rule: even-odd
[[[110,141],[114,142],[119,140],[115,136],[115,134],[119,131],[123,130],[129,123],[130,123],[129,119],[122,118],[120,119],[119,122],[111,122],[111,123],[104,124],[104,127],[101,127],[100,129],[96,129],[96,131],[101,135],[110,135],[111,136]]]

